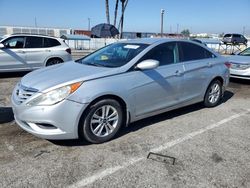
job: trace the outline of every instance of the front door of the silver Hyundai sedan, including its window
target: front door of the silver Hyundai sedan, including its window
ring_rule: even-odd
[[[180,101],[183,64],[179,63],[176,42],[160,44],[151,49],[139,62],[154,59],[156,69],[135,71],[135,114],[143,116],[174,106]],[[139,63],[138,62],[138,63]]]

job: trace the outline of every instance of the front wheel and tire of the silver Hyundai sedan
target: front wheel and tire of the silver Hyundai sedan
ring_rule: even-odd
[[[116,135],[122,122],[120,103],[113,99],[100,100],[90,106],[82,118],[79,137],[95,144],[106,142]]]

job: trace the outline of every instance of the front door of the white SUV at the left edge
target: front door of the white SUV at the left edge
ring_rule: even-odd
[[[0,71],[29,69],[24,52],[25,37],[14,36],[2,41],[5,48],[0,49]]]

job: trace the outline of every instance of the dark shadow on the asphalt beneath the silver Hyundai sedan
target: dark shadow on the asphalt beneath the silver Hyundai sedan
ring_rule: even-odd
[[[221,100],[220,104],[227,102],[228,100],[230,100],[233,97],[234,93],[232,93],[231,91],[225,91],[224,93],[224,97]],[[147,127],[150,125],[153,125],[155,123],[161,122],[161,121],[165,121],[168,119],[172,119],[172,118],[176,118],[178,116],[182,116],[194,111],[199,111],[201,109],[204,108],[203,103],[197,103],[194,105],[190,105],[190,106],[186,106],[177,110],[172,110],[160,115],[156,115],[156,116],[152,116],[134,123],[131,123],[128,127],[123,127],[120,132],[117,134],[116,138],[121,137],[123,135],[126,135],[130,132],[135,132],[138,131],[139,129],[143,128],[143,127]],[[52,142],[55,145],[59,145],[59,146],[84,146],[84,145],[90,145],[90,143],[88,143],[85,140],[50,140],[50,142]]]

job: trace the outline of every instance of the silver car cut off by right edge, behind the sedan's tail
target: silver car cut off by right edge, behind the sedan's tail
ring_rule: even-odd
[[[230,77],[250,80],[250,47],[228,59],[231,62]]]

